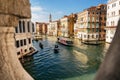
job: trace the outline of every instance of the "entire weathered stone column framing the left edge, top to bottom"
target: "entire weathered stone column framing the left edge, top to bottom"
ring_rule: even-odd
[[[29,0],[0,0],[0,80],[33,80],[17,58],[14,34],[20,18],[30,18]]]

